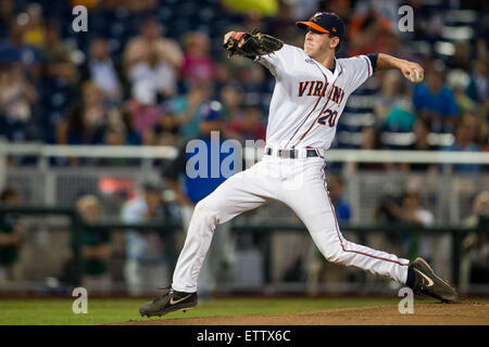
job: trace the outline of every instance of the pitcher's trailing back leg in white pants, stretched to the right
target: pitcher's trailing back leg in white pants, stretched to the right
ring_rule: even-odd
[[[360,268],[402,284],[408,278],[409,260],[347,241],[338,227],[321,166],[305,172],[300,194],[284,201],[304,222],[317,248],[331,262]],[[311,170],[309,169],[309,170]]]

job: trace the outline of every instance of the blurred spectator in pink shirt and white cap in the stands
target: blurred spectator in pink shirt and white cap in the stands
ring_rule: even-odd
[[[130,123],[142,139],[142,144],[150,145],[153,128],[161,116],[154,86],[145,80],[134,85],[133,98],[127,101],[125,110],[130,115]]]

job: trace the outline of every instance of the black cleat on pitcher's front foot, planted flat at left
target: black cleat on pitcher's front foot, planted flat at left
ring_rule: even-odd
[[[163,295],[139,308],[141,316],[162,316],[174,311],[186,311],[197,306],[197,293],[184,293],[172,287],[164,288]]]

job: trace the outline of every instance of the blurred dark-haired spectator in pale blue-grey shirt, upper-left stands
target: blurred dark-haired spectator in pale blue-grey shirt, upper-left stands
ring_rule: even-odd
[[[92,80],[112,103],[122,100],[120,67],[111,57],[106,39],[97,37],[90,43],[90,55],[83,67],[82,81]]]

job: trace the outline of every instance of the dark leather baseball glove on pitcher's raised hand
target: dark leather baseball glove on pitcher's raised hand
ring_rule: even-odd
[[[240,44],[240,42],[242,42]],[[269,54],[278,51],[284,46],[284,41],[273,36],[261,34],[259,30],[253,33],[235,33],[231,35],[224,48],[229,52],[228,56],[238,54],[244,56],[256,56]]]

